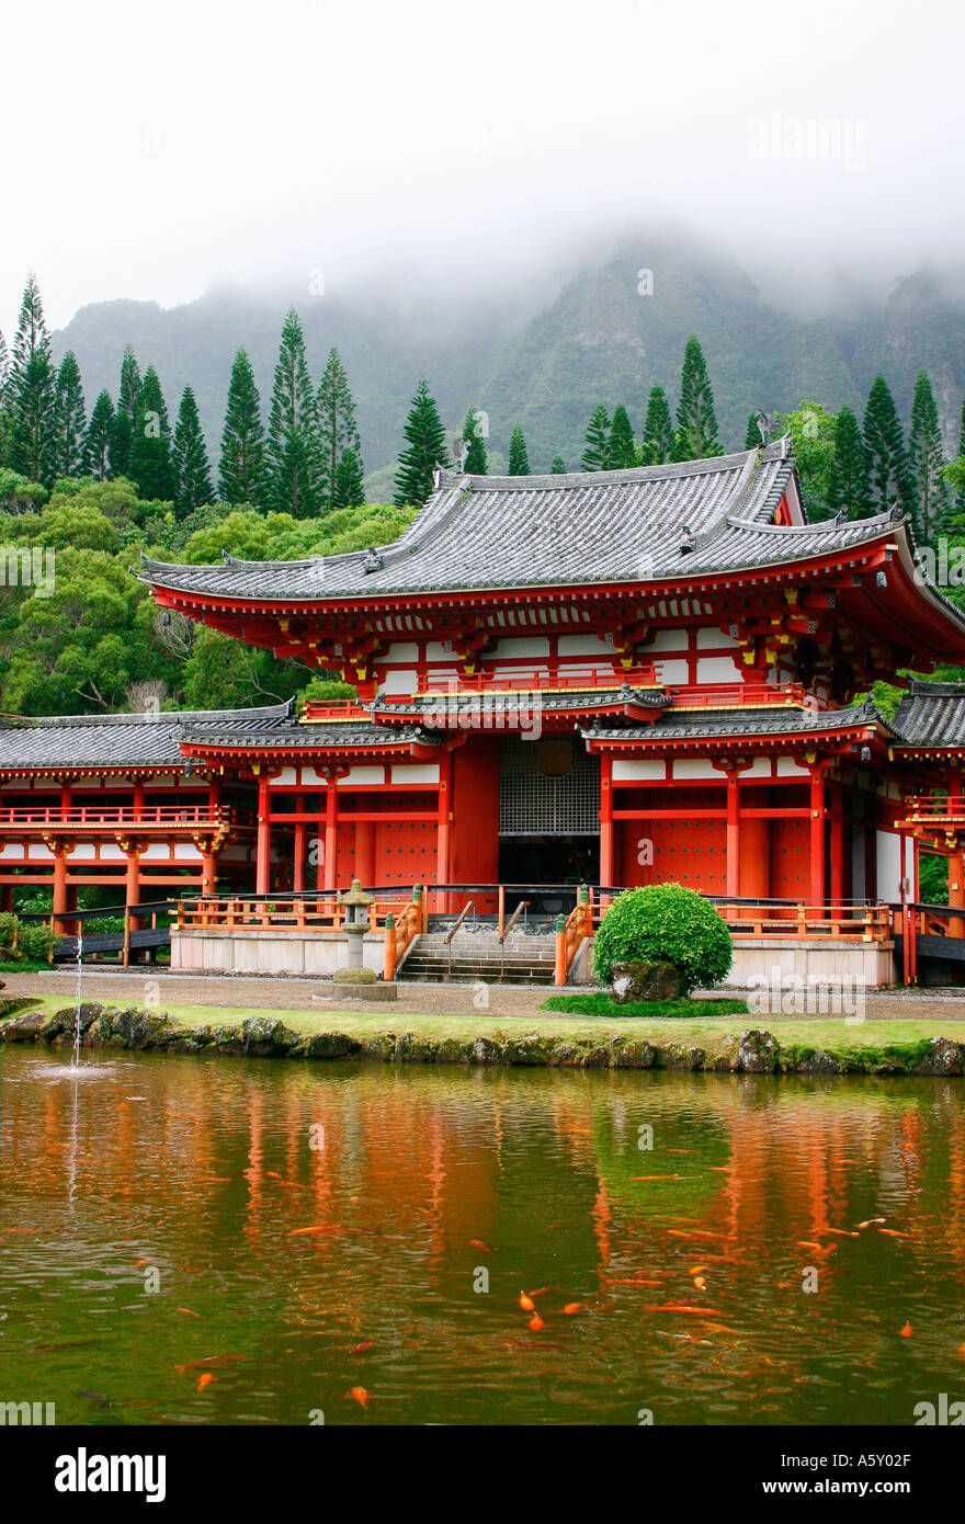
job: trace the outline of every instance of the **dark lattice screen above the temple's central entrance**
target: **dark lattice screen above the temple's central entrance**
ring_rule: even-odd
[[[503,837],[598,835],[599,757],[573,741],[573,767],[564,777],[540,771],[540,742],[503,742],[499,829]]]

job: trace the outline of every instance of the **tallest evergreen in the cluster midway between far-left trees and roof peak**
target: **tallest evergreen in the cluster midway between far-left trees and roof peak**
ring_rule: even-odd
[[[265,501],[277,514],[314,517],[319,506],[314,475],[317,453],[316,396],[305,361],[305,338],[299,314],[290,308],[274,367],[265,450]]]

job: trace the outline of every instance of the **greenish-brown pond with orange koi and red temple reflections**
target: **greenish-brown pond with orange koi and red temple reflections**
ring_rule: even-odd
[[[58,1423],[965,1398],[960,1081],[0,1064],[0,1402]]]

